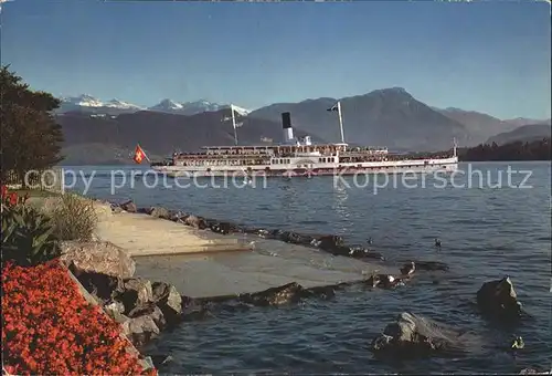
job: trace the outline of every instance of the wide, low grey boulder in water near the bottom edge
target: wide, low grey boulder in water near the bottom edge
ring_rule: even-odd
[[[458,336],[443,324],[403,312],[372,341],[371,351],[399,357],[428,356],[453,349],[459,343]]]

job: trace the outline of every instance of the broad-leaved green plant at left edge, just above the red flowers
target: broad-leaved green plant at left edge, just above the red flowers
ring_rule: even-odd
[[[60,257],[50,219],[31,207],[2,206],[2,261],[35,265]]]

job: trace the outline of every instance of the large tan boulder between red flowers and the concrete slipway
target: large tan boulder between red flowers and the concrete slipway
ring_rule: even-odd
[[[136,270],[135,261],[127,251],[108,241],[64,241],[61,260],[88,273],[102,273],[117,278],[130,278]]]

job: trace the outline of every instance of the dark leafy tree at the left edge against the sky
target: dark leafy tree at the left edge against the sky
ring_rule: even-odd
[[[14,171],[24,185],[30,169],[46,169],[63,160],[62,129],[51,113],[60,101],[50,93],[30,90],[8,69],[0,69],[1,178]]]

